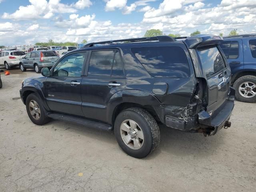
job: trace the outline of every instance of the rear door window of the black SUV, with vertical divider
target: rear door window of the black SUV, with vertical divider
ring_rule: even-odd
[[[88,76],[122,77],[122,61],[118,51],[93,51],[90,57]]]

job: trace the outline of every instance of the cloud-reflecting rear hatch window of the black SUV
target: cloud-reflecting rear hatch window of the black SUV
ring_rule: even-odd
[[[225,62],[216,46],[198,50],[199,57],[204,68],[206,77],[219,72],[226,67]]]

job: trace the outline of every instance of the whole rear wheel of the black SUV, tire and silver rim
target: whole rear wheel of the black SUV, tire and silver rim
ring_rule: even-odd
[[[134,122],[136,128],[135,131],[132,131]],[[131,128],[131,131],[129,128]],[[142,134],[140,131],[142,131]],[[122,150],[135,158],[146,157],[157,148],[160,142],[160,131],[156,120],[142,108],[128,108],[120,112],[115,120],[114,132]],[[141,139],[142,136],[143,140]],[[130,143],[124,142],[124,140],[128,141],[129,139],[131,140]]]

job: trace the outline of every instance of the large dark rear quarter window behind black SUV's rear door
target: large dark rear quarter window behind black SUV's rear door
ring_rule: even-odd
[[[190,70],[180,47],[132,48],[132,53],[154,77],[188,78]]]

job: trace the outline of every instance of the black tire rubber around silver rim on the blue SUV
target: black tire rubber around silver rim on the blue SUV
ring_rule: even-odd
[[[248,102],[248,103],[256,102],[256,96],[253,96],[251,98],[245,98],[242,95],[240,95],[239,86],[244,82],[253,82],[254,84],[256,84],[256,77],[253,78],[252,76],[252,78],[250,78],[249,76],[244,76],[236,80],[236,82],[234,83],[234,88],[236,90],[236,95],[235,95],[236,99],[241,102]]]

